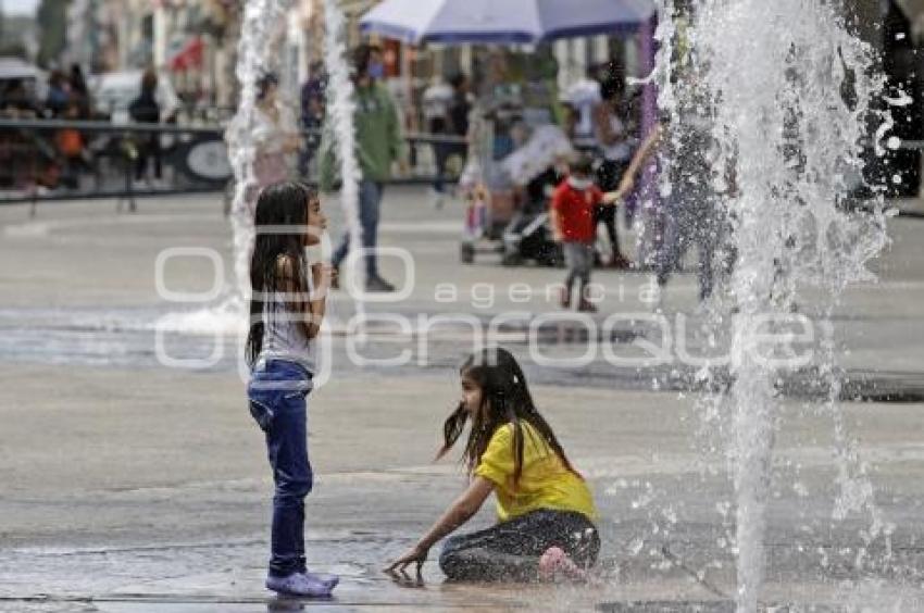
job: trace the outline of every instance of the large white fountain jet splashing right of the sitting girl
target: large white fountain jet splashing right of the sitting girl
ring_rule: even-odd
[[[873,279],[866,264],[886,245],[882,199],[858,212],[848,195],[862,176],[870,103],[883,82],[872,70],[873,49],[850,34],[838,1],[679,4],[661,2],[659,104],[670,115],[669,151],[704,133],[699,154],[711,167],[707,191],[722,225],[715,239],[727,248],[716,258],[735,254],[712,298],[712,325],[731,336],[732,383],[702,402],[722,422],[735,486],[737,610],[754,612],[782,408],[776,387],[802,367],[767,355],[761,335],[786,334],[782,322],[812,302],[806,288],[814,288],[821,336],[842,290]],[[676,189],[661,192],[670,198]],[[833,341],[819,353],[817,376],[831,389],[826,406],[842,447]],[[841,463],[840,475],[852,509],[871,516],[869,543],[884,531],[872,490],[856,465]]]

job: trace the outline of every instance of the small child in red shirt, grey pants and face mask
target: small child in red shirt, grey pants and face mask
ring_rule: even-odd
[[[592,176],[592,160],[582,155],[571,165],[570,176],[552,195],[550,209],[554,240],[562,243],[567,266],[561,305],[564,309],[571,306],[572,288],[576,280],[578,282],[577,310],[587,313],[597,312],[597,308],[587,297],[590,268],[594,266],[594,241],[597,237],[594,209],[599,204],[615,205],[619,202],[617,193],[603,193],[594,185]]]

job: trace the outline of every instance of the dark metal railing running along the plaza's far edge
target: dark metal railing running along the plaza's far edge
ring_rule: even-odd
[[[302,136],[294,175],[314,182],[321,134]],[[405,163],[389,183],[433,183],[434,146],[465,145],[428,134],[408,134],[404,141]],[[452,166],[447,182],[461,171]],[[0,118],[0,204],[116,199],[134,210],[137,198],[226,192],[232,179],[222,126]]]

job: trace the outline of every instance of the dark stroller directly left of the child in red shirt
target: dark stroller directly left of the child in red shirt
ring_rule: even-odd
[[[554,166],[535,177],[523,191],[523,207],[503,232],[501,262],[515,266],[533,261],[559,266],[564,261],[561,246],[552,240],[549,227],[549,200],[563,177]]]

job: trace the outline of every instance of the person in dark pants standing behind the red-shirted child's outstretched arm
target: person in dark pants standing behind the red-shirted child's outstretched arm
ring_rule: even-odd
[[[601,87],[603,102],[594,110],[594,123],[599,145],[597,165],[597,185],[603,191],[613,191],[620,186],[620,179],[638,146],[628,133],[624,121],[623,80],[619,75],[608,78]],[[595,213],[595,227],[603,224],[610,238],[612,255],[610,265],[614,268],[629,268],[632,262],[620,250],[616,234],[616,210],[613,207],[598,207]]]

